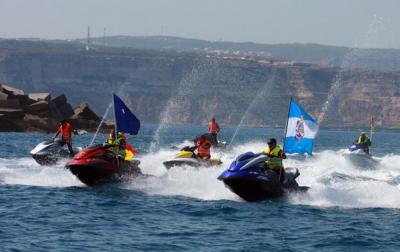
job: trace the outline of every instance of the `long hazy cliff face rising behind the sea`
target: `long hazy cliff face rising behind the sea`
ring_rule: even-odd
[[[103,114],[119,92],[143,122],[285,125],[289,97],[324,126],[400,125],[400,72],[339,69],[157,52],[101,53],[74,48],[0,47],[0,82],[29,92],[65,93]],[[336,87],[336,88],[335,88]]]

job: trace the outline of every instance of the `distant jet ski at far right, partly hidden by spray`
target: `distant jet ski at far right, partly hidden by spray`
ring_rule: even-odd
[[[352,143],[343,155],[352,164],[361,168],[373,168],[378,163],[371,154],[366,153],[363,147],[357,143]]]

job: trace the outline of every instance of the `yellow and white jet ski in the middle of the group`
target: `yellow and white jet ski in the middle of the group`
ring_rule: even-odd
[[[209,160],[201,159],[196,156],[194,151],[196,150],[196,147],[189,147],[185,146],[183,147],[178,155],[176,155],[174,158],[167,160],[163,162],[165,168],[167,170],[171,169],[172,167],[177,167],[177,166],[192,166],[192,167],[211,167],[211,166],[216,166],[222,164],[222,161],[220,158],[211,158]]]

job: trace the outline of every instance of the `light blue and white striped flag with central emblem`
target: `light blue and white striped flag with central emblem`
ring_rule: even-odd
[[[293,99],[290,99],[289,118],[285,133],[286,153],[312,155],[318,123]]]

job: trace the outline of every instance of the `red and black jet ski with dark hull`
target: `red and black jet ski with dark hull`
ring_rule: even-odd
[[[127,161],[116,156],[115,145],[94,145],[77,153],[66,167],[82,183],[95,186],[121,182],[142,175],[139,160]]]

